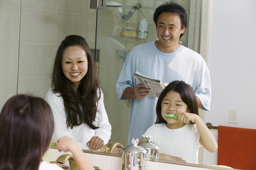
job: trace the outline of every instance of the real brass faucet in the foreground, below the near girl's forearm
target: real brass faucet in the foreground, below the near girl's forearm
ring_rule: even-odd
[[[74,159],[74,156],[73,155],[70,155],[70,154],[64,154],[64,155],[61,155],[60,157],[57,158],[56,161],[51,161],[50,163],[55,163],[57,164],[59,167],[63,168],[63,169],[66,169],[64,165],[64,163],[66,163],[68,160],[69,162],[69,170],[78,170],[78,167],[77,167],[77,164],[75,162],[75,159]]]

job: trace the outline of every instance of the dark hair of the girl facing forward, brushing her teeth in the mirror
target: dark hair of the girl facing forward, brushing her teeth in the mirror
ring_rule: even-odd
[[[165,123],[166,121],[162,117],[162,102],[166,94],[170,91],[174,91],[180,94],[181,100],[188,105],[188,112],[199,115],[198,104],[193,88],[183,81],[173,81],[164,88],[160,94],[156,104],[156,124]],[[190,122],[192,123],[192,122]]]

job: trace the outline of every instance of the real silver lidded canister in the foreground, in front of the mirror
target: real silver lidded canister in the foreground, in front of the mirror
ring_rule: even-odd
[[[138,139],[131,142],[132,145],[122,149],[122,170],[146,170],[147,150],[138,146]]]

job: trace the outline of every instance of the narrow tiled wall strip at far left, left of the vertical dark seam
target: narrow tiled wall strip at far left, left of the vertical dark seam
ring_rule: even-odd
[[[0,108],[16,94],[20,1],[0,1]]]

